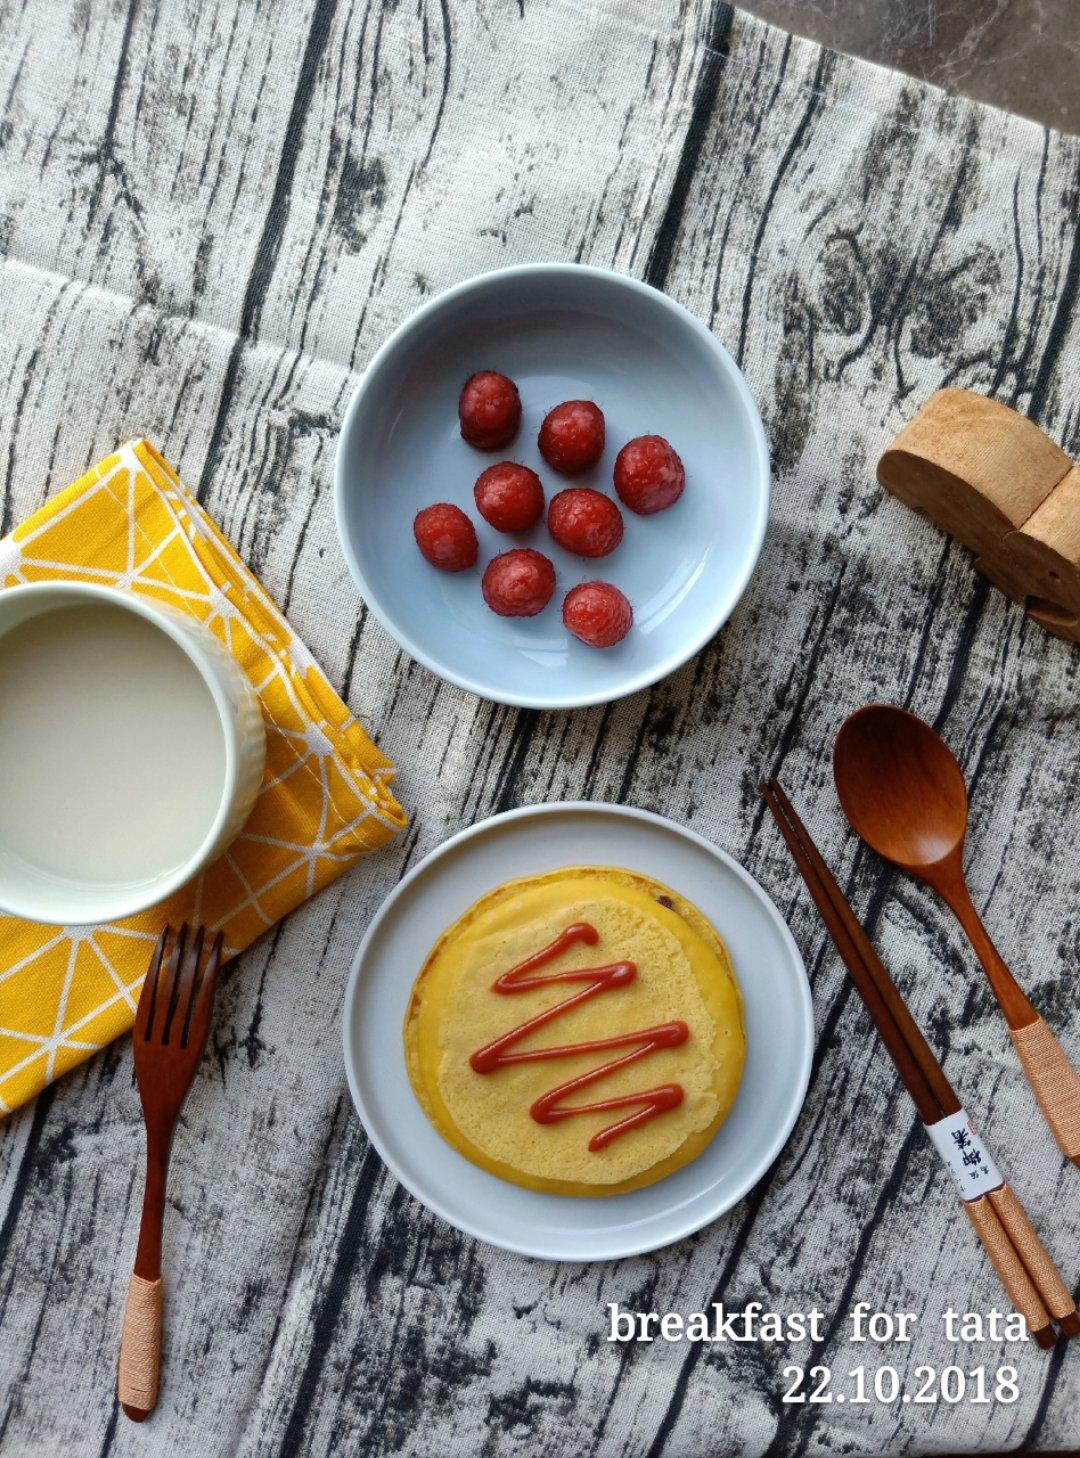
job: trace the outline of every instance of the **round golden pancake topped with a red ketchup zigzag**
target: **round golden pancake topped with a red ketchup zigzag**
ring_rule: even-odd
[[[481,897],[412,989],[405,1057],[466,1159],[552,1194],[688,1163],[727,1117],[746,1037],[724,943],[633,870],[567,866]]]

